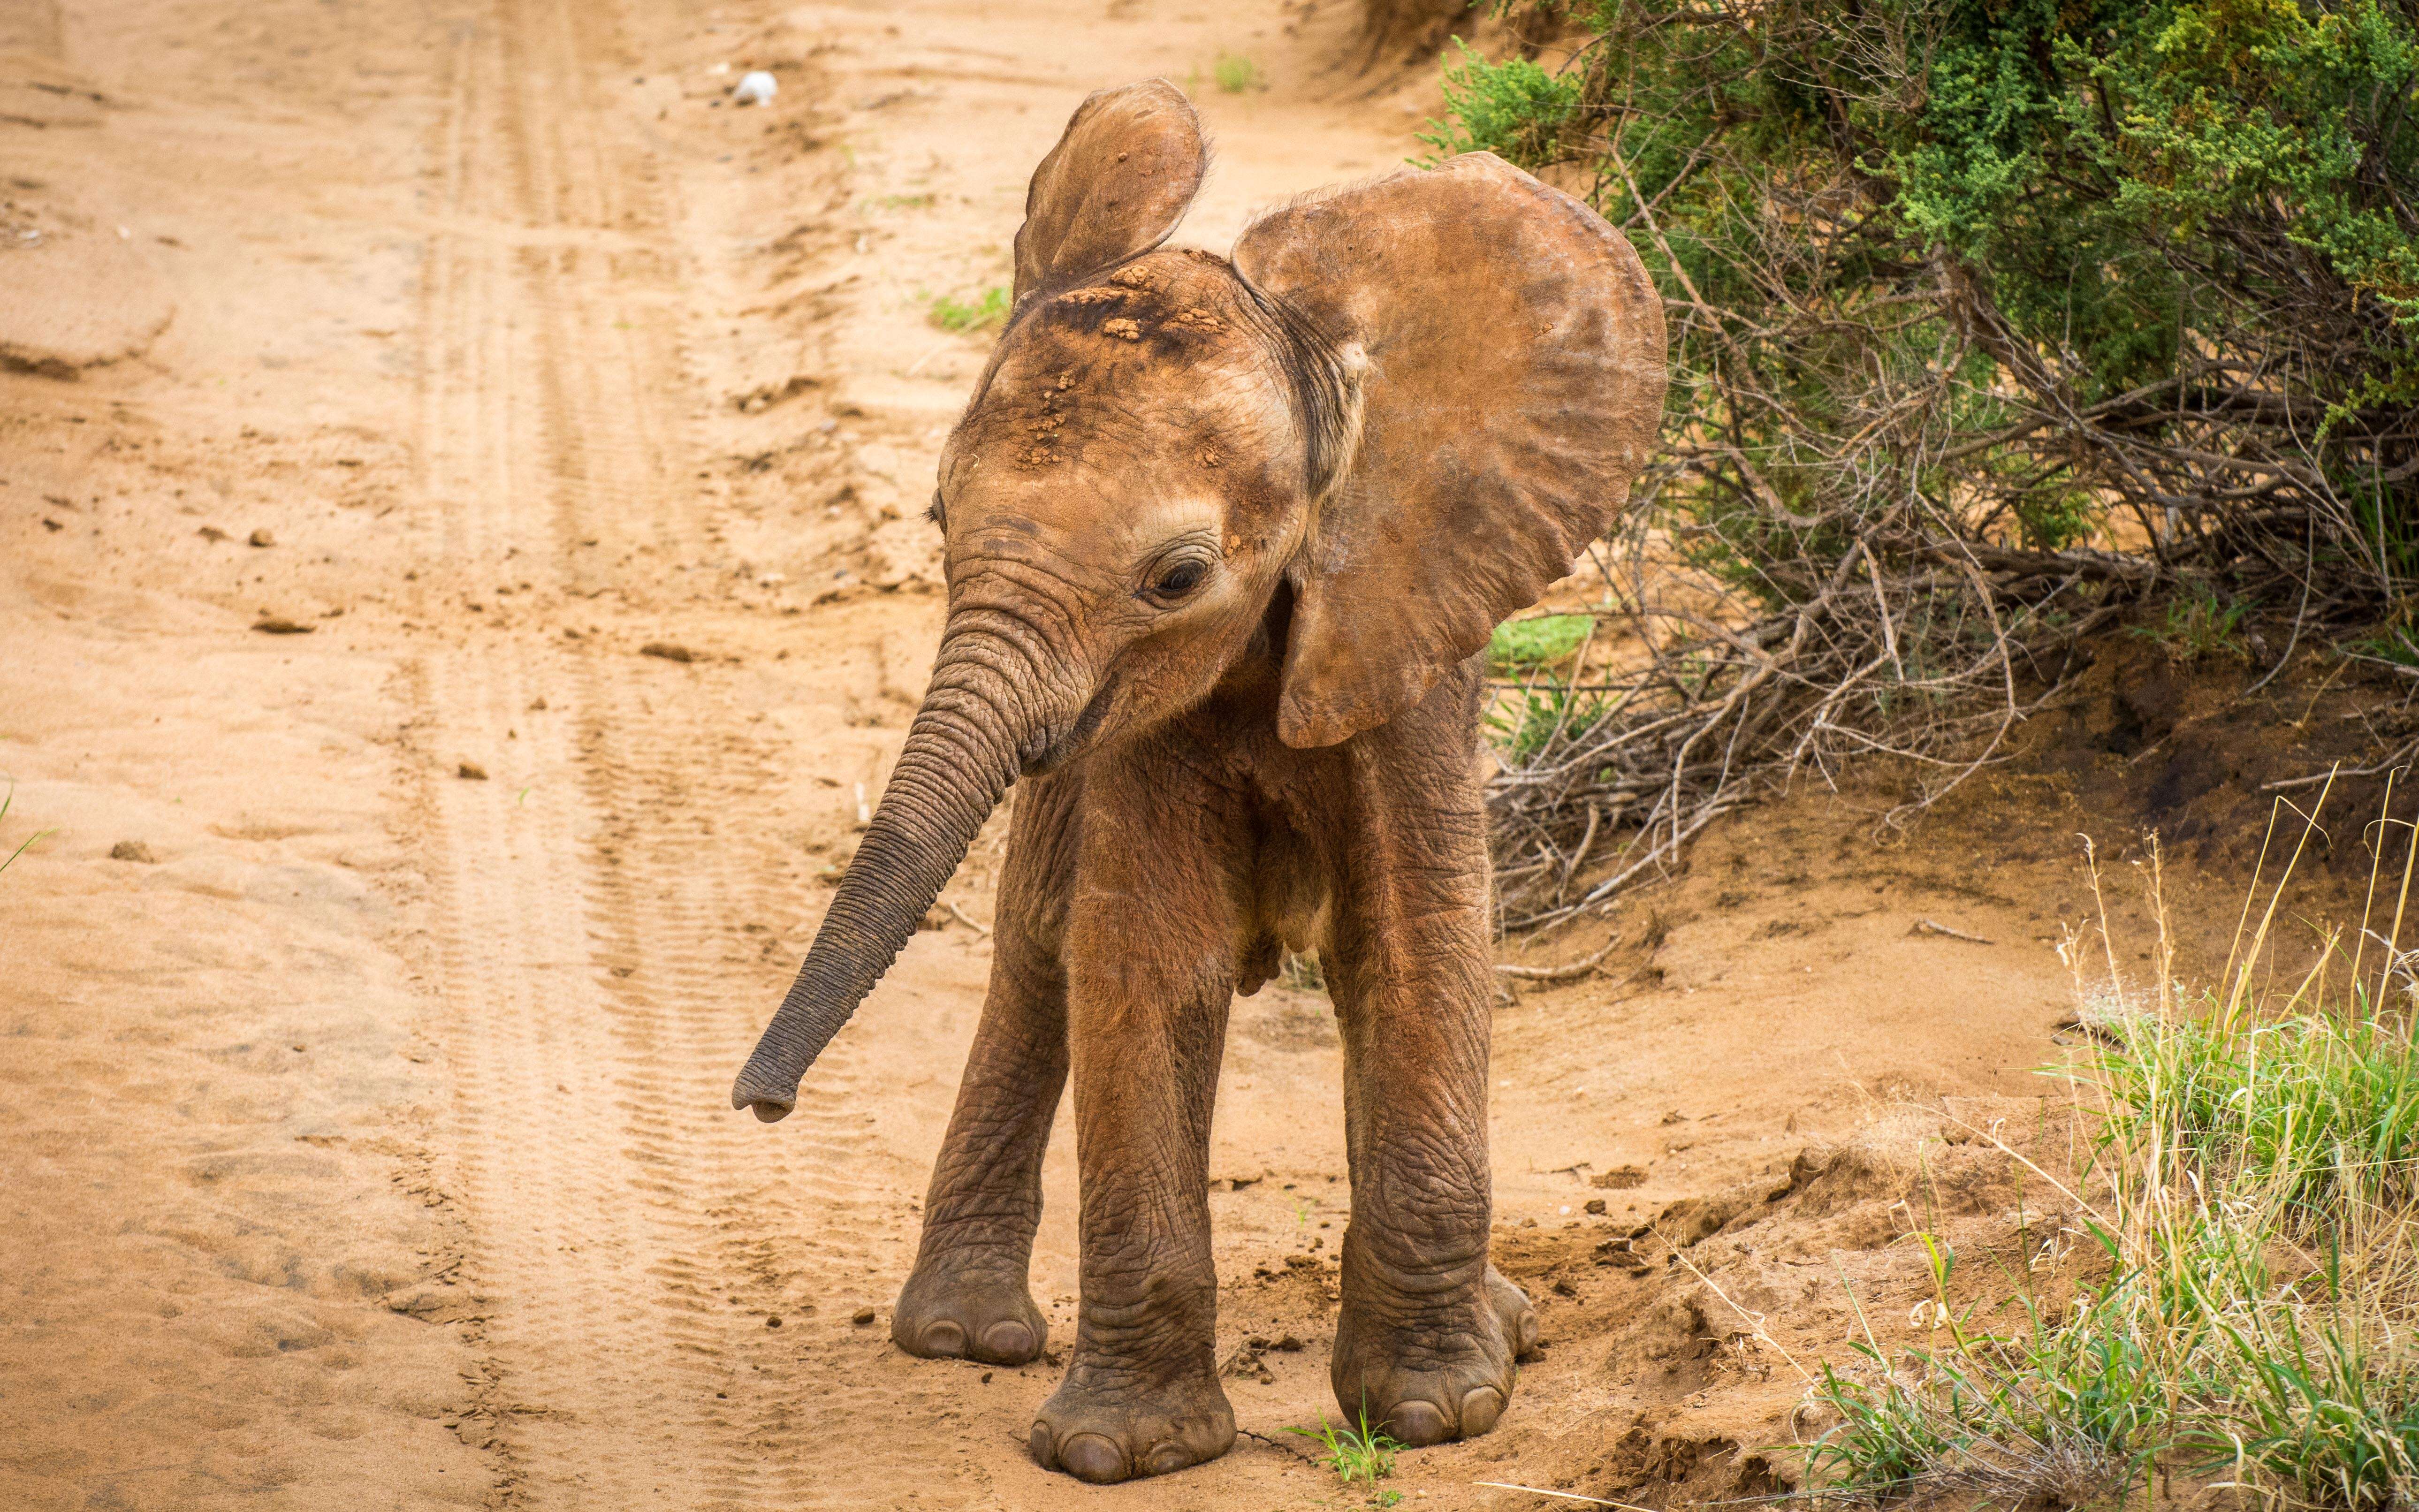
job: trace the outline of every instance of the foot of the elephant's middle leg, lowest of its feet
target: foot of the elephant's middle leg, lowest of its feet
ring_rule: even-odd
[[[1200,1374],[1144,1386],[1132,1372],[1076,1357],[1043,1403],[1030,1447],[1045,1471],[1093,1485],[1166,1476],[1234,1449],[1234,1408],[1207,1360]]]

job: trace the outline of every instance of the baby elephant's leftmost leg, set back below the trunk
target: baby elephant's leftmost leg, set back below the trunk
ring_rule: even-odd
[[[1074,798],[1067,779],[1035,781],[1018,796],[999,878],[992,987],[931,1168],[914,1272],[890,1314],[890,1338],[910,1355],[1026,1364],[1047,1343],[1026,1275],[1043,1214],[1043,1152],[1067,1086],[1060,946]]]

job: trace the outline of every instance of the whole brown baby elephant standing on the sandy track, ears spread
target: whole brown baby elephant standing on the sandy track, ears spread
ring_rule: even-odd
[[[1647,457],[1662,300],[1488,152],[1161,252],[1207,162],[1166,82],[1033,174],[1016,302],[941,452],[948,622],[832,910],[731,1093],[774,1120],[1023,779],[997,956],[893,1338],[1023,1364],[1043,1142],[1074,1079],[1084,1299],[1033,1456],[1234,1444],[1207,1142],[1226,1009],[1316,948],[1345,1045],[1335,1403],[1488,1432],[1536,1314],[1488,1265],[1480,648]]]

